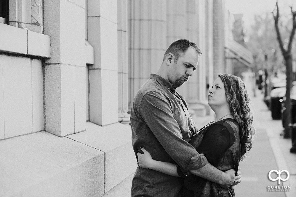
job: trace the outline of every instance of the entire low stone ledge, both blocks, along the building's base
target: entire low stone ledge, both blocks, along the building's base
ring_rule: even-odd
[[[87,123],[87,131],[63,138],[43,131],[2,140],[1,196],[105,196],[116,187],[128,193],[119,185],[130,187],[137,167],[130,135],[120,123]]]

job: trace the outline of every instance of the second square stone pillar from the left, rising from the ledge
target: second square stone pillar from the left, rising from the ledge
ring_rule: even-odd
[[[88,1],[87,17],[95,52],[89,66],[89,121],[105,126],[118,122],[117,0]]]

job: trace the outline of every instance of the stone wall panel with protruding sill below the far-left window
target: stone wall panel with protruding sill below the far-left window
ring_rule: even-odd
[[[42,57],[51,55],[49,36],[2,23],[0,29],[1,140],[44,130]]]

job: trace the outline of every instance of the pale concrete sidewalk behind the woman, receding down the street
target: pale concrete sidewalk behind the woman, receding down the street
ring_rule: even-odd
[[[283,139],[281,120],[272,120],[271,112],[263,102],[263,95],[256,90],[256,97],[249,91],[251,106],[254,112],[254,127],[256,134],[253,139],[252,149],[244,161],[240,162],[242,169],[241,183],[235,186],[238,197],[249,196],[296,196],[296,154],[290,153],[291,139]],[[206,120],[208,119],[208,120]],[[199,128],[212,117],[197,117],[196,124]],[[290,191],[268,191],[268,186],[280,186],[278,181],[271,181],[268,173],[271,170],[287,170],[290,178],[281,181],[281,185],[290,186]],[[275,179],[276,173],[272,173]],[[285,179],[285,173],[282,174]]]

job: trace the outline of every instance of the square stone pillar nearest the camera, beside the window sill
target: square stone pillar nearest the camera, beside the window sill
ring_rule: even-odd
[[[44,34],[51,37],[43,71],[45,130],[57,136],[86,128],[84,12],[84,2],[44,1]]]

